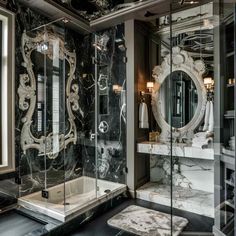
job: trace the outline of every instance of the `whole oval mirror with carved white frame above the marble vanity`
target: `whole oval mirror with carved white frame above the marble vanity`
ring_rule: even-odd
[[[192,140],[206,108],[204,72],[204,62],[194,61],[179,47],[172,49],[172,58],[168,54],[161,65],[154,67],[152,111],[161,128],[161,142],[169,142],[171,137],[178,142]]]

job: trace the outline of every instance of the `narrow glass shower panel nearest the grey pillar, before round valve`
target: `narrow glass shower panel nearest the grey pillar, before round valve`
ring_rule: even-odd
[[[98,81],[98,179],[125,184],[126,48],[124,24],[97,33],[95,50]]]

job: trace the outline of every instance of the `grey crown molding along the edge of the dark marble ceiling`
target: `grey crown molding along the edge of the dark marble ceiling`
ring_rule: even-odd
[[[0,2],[3,0],[0,0]],[[198,5],[205,4],[210,0],[200,0]],[[134,2],[133,5],[122,8],[117,11],[113,11],[107,15],[99,17],[96,20],[88,21],[83,19],[79,14],[72,12],[68,8],[60,5],[53,0],[19,0],[25,6],[33,8],[39,13],[47,16],[52,21],[67,18],[69,20],[68,27],[78,31],[82,34],[88,34],[103,30],[121,23],[127,20],[135,19],[142,21],[150,21],[151,18],[158,18],[169,14],[171,0],[143,0]],[[185,10],[190,8],[189,4],[186,6],[179,6],[174,9],[173,12]],[[173,9],[172,9],[173,10]],[[155,16],[145,17],[146,13],[154,12]]]

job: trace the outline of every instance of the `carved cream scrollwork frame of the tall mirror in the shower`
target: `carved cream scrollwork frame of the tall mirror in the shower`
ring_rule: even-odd
[[[59,39],[59,58],[66,60],[69,63],[69,72],[65,74],[67,77],[66,83],[66,109],[68,112],[68,121],[70,128],[67,134],[59,134],[59,152],[67,147],[69,143],[76,144],[77,130],[75,124],[75,116],[73,111],[79,109],[79,87],[74,83],[75,68],[76,68],[76,53],[69,52],[65,46],[64,41],[55,33],[40,32],[36,37],[32,38],[26,32],[22,35],[21,50],[24,59],[23,66],[27,73],[20,75],[20,85],[18,87],[19,108],[26,112],[22,118],[23,127],[21,130],[21,148],[24,153],[27,149],[37,149],[38,155],[47,155],[49,159],[55,159],[59,152],[53,151],[54,134],[49,133],[46,137],[41,136],[36,138],[31,131],[32,116],[36,106],[36,80],[33,71],[33,62],[31,61],[31,53],[42,44],[49,45],[49,50],[45,53],[49,58],[53,57],[53,52],[50,50],[50,44]]]

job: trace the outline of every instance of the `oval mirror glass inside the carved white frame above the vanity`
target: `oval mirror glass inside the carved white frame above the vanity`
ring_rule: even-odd
[[[169,93],[170,79],[172,93]],[[170,97],[171,96],[171,97]],[[170,99],[172,98],[172,105]],[[159,90],[161,113],[172,127],[181,128],[194,117],[198,105],[197,88],[191,77],[182,70],[176,70],[166,77]]]

